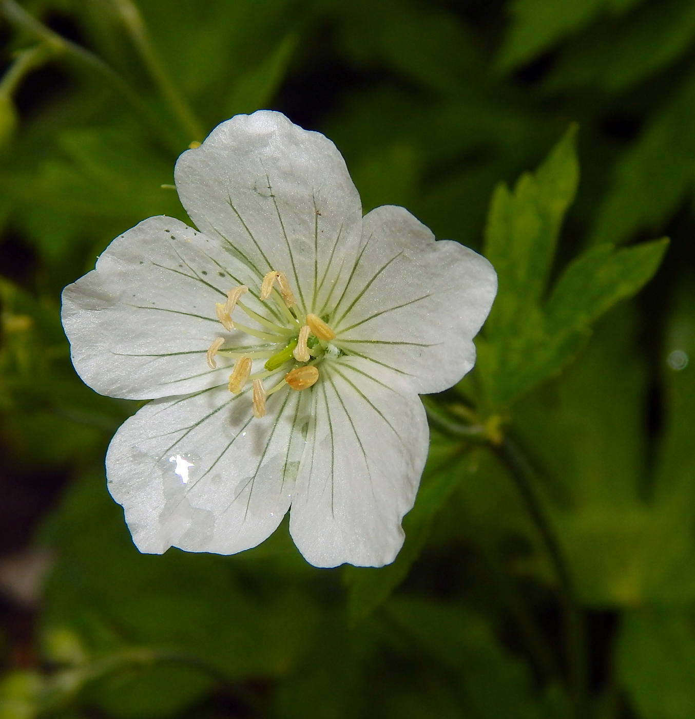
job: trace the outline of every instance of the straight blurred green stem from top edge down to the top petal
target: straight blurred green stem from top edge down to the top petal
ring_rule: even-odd
[[[154,80],[160,88],[162,96],[177,117],[181,127],[188,133],[190,139],[202,141],[206,134],[203,126],[198,122],[198,119],[193,114],[183,95],[178,91],[178,88],[167,74],[164,63],[162,63],[160,56],[157,54],[155,46],[152,45],[152,40],[150,40],[149,32],[147,31],[147,25],[144,23],[137,5],[135,5],[132,0],[113,1],[116,6],[116,11],[121,16],[139,52],[140,58],[142,58],[142,62],[152,76],[152,80]]]

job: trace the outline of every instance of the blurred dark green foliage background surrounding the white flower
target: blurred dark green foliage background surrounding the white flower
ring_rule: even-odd
[[[693,0],[0,0],[0,42],[0,719],[695,717]],[[259,108],[500,275],[385,569],[140,555],[137,404],[70,365],[60,290]]]

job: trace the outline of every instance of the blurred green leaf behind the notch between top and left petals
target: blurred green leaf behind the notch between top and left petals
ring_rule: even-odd
[[[36,173],[0,177],[16,203],[19,224],[49,262],[75,244],[111,239],[147,216],[186,221],[174,191],[172,157],[157,152],[127,127],[70,130]]]

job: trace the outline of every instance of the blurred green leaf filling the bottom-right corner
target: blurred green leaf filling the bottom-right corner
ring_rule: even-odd
[[[643,719],[695,715],[695,626],[685,613],[635,610],[617,644],[622,685]]]

